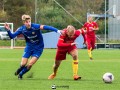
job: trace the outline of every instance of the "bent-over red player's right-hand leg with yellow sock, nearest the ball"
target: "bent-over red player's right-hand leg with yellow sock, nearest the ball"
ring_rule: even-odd
[[[74,80],[81,79],[81,77],[78,75],[78,50],[73,49],[70,52],[70,55],[73,57],[73,61],[72,61],[73,78]]]

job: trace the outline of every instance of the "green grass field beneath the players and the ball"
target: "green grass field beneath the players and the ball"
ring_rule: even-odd
[[[48,80],[52,73],[55,49],[44,49],[39,61],[24,75],[23,80],[14,76],[19,67],[22,49],[0,49],[0,90],[119,90],[120,89],[120,50],[94,50],[94,60],[90,61],[87,50],[79,50],[79,75],[82,79],[74,81],[72,77],[72,58],[68,55],[63,61],[57,77]],[[105,84],[102,76],[105,72],[113,73],[115,80]]]

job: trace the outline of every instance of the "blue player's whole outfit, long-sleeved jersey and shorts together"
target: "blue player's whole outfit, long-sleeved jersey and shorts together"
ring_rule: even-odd
[[[43,29],[45,30],[52,30],[57,32],[58,29],[44,25]],[[26,48],[24,50],[23,57],[29,58],[30,56],[35,56],[37,58],[40,57],[40,55],[43,52],[44,48],[44,42],[43,42],[43,36],[40,30],[40,24],[31,24],[31,28],[27,29],[25,25],[19,27],[17,31],[15,31],[13,34],[10,32],[10,30],[7,31],[8,35],[11,39],[15,38],[17,35],[23,34],[26,40]]]

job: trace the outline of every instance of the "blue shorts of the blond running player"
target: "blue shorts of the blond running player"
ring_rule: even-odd
[[[41,48],[36,48],[36,47],[26,47],[24,50],[23,57],[24,58],[29,58],[31,57],[37,57],[39,58],[43,52],[43,47]]]

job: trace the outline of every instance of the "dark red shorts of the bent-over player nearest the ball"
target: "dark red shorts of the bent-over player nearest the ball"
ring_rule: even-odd
[[[77,47],[76,46],[70,46],[70,47],[64,47],[64,48],[58,47],[55,60],[65,60],[66,54],[67,53],[69,54],[74,49],[77,49]]]

